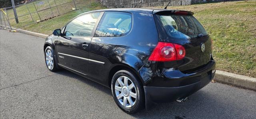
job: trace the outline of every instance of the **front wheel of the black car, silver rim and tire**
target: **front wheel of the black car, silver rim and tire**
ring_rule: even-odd
[[[56,59],[54,57],[54,51],[50,46],[46,47],[44,51],[44,57],[47,68],[50,71],[57,71],[58,65],[55,63]]]

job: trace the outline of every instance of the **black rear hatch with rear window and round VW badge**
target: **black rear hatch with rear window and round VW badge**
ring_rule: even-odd
[[[188,73],[203,67],[211,60],[212,40],[192,12],[154,10],[159,41],[184,46],[186,55],[177,61],[180,71]]]

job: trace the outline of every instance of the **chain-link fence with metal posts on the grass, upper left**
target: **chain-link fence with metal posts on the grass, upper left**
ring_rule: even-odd
[[[0,8],[0,27],[15,30],[90,6],[92,1],[34,0],[15,6],[17,16],[14,14],[14,7]]]

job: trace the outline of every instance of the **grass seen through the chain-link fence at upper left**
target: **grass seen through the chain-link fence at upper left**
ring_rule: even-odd
[[[92,4],[90,4],[91,3],[90,1],[92,2]],[[16,7],[17,15],[20,16],[18,17],[18,20],[19,20],[18,24],[16,24],[16,21],[14,19],[13,10],[12,9],[7,10],[8,18],[13,18],[13,19],[10,19],[11,26],[14,28],[20,28],[22,26],[33,24],[34,22],[40,19],[47,20],[49,18],[53,18],[54,16],[58,16],[59,14],[70,12],[72,11],[72,8],[75,8],[74,2],[72,2],[72,0],[55,0],[55,2],[54,0],[39,0],[34,2],[34,4],[28,3],[22,6]],[[91,8],[95,5],[95,2],[99,2],[99,1],[98,0],[76,0],[76,6],[78,9],[88,8],[88,6],[90,6],[89,8]],[[53,7],[52,9],[47,9],[47,8],[50,8],[49,4],[51,7]],[[58,9],[54,7],[56,5],[57,6],[60,5],[58,6]],[[47,9],[47,10],[44,10],[44,9]],[[36,13],[36,10],[37,11],[43,10],[38,12],[40,17]],[[30,13],[32,13],[31,16],[33,19],[31,18]],[[25,16],[22,16],[22,15],[25,15]]]

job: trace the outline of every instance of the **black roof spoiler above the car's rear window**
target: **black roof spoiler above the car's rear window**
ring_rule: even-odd
[[[154,10],[153,14],[159,14],[159,15],[166,15],[166,14],[194,15],[194,12],[184,11],[184,10]]]

